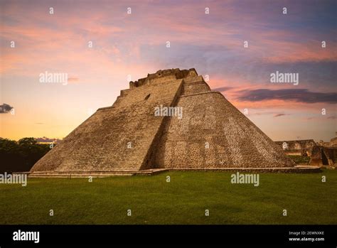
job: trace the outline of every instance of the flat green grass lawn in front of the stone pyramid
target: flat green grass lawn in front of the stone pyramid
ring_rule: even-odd
[[[336,170],[261,173],[258,187],[232,184],[231,174],[169,171],[92,183],[32,178],[26,187],[0,184],[0,224],[337,224]]]

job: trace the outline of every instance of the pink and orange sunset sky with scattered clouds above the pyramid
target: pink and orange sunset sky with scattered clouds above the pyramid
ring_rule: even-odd
[[[336,16],[337,1],[323,0],[1,0],[0,104],[15,112],[0,114],[0,136],[62,139],[112,105],[127,75],[196,68],[274,141],[329,141],[337,131]],[[68,85],[39,82],[46,71],[68,73]],[[276,71],[299,73],[299,85],[270,82]]]

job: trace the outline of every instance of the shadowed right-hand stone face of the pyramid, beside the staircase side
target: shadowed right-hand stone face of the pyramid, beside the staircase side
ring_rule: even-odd
[[[199,84],[189,86],[196,87],[196,92],[200,90]],[[282,149],[220,92],[182,95],[177,106],[183,107],[183,119],[171,117],[166,124],[156,152],[157,167],[294,166]]]

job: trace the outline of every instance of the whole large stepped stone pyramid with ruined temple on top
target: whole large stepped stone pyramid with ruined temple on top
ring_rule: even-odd
[[[111,107],[97,109],[43,156],[31,175],[294,166],[195,69],[169,69],[130,82]]]

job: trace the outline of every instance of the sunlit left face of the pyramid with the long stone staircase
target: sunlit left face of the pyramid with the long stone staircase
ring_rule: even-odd
[[[99,109],[41,158],[31,171],[139,170],[149,161],[164,117],[154,107],[171,106],[182,80],[153,82],[126,91],[112,107]],[[131,142],[132,149],[127,147]]]

